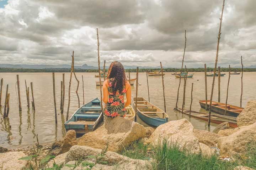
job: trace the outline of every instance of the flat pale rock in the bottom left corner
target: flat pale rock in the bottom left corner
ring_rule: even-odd
[[[23,152],[6,152],[0,153],[0,169],[11,170],[11,169],[24,169],[28,165],[27,160],[19,160],[27,155]]]

